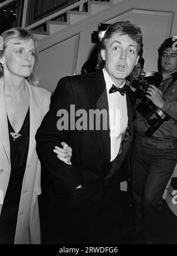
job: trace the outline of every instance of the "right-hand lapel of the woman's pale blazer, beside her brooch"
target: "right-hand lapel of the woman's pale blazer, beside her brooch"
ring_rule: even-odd
[[[34,88],[26,81],[29,92],[30,92],[30,144],[28,148],[28,157],[27,157],[27,166],[30,162],[32,151],[34,150],[35,145],[35,134],[38,128],[38,122],[41,120],[39,106],[40,102],[38,101],[38,97],[35,93]]]

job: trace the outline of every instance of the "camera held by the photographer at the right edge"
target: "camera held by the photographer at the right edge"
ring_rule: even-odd
[[[147,123],[150,125],[148,131],[145,132],[146,137],[150,137],[164,121],[170,119],[169,115],[163,113],[157,106],[153,104],[150,99],[146,98],[146,90],[149,85],[154,85],[156,87],[162,82],[162,77],[158,73],[154,73],[152,76],[147,76],[144,78],[145,83],[139,86],[139,95],[142,96],[142,101],[136,106],[136,110],[146,119]]]

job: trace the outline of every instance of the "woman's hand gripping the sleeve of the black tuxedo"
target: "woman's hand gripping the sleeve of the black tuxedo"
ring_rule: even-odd
[[[55,146],[53,150],[57,157],[66,164],[71,164],[72,148],[69,147],[65,142],[61,142],[63,148]]]

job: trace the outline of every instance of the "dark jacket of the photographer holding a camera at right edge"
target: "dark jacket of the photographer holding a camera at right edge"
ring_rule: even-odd
[[[177,148],[177,72],[162,79],[162,83],[158,88],[163,93],[165,103],[161,109],[165,114],[171,118],[163,124],[152,134],[150,138],[145,136],[145,132],[149,129],[146,120],[136,111],[136,119],[134,121],[134,128],[137,134],[142,136],[142,142],[155,148]],[[153,114],[155,115],[155,114]]]

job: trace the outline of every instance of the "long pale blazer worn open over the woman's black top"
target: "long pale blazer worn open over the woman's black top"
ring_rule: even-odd
[[[41,166],[35,150],[35,133],[40,127],[44,115],[50,105],[51,93],[45,89],[30,85],[30,144],[28,148],[27,165],[22,183],[19,202],[17,228],[14,244],[40,244],[40,219],[38,210],[38,195],[41,194]],[[8,120],[4,97],[4,79],[0,79],[0,214],[3,199],[8,187],[11,173],[10,144]]]

